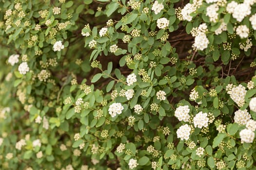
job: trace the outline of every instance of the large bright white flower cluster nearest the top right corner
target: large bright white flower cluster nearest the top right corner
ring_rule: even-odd
[[[251,14],[251,6],[240,3],[234,9],[232,16],[236,18],[238,22],[241,22],[246,16]]]

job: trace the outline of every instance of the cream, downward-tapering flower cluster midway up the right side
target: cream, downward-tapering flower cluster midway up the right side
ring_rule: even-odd
[[[230,95],[231,99],[236,102],[236,104],[239,107],[242,107],[245,100],[245,94],[246,94],[245,87],[242,85],[238,85],[236,87],[233,87],[231,90],[228,90],[228,94]]]

